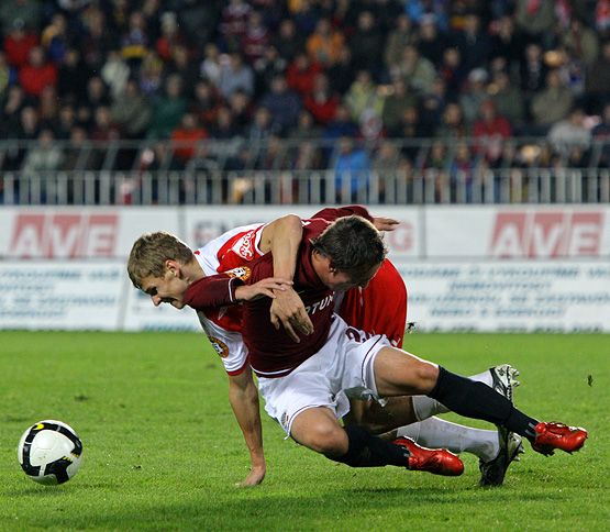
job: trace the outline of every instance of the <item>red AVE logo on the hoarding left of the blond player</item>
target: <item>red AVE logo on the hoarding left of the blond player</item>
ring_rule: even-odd
[[[118,214],[19,214],[11,236],[10,256],[111,257],[114,256],[118,226]]]

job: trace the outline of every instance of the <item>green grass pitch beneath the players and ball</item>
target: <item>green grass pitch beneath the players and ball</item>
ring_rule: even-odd
[[[356,470],[284,441],[267,418],[267,478],[237,489],[244,445],[221,364],[201,335],[2,332],[0,345],[0,530],[610,525],[609,336],[408,337],[412,352],[459,373],[511,362],[521,408],[589,429],[580,453],[545,458],[528,446],[506,485],[485,490],[472,456],[458,478]],[[22,431],[45,418],[70,423],[85,444],[81,470],[63,486],[34,484],[16,463]]]

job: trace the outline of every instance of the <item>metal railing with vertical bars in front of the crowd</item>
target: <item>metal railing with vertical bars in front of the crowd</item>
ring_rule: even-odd
[[[466,160],[459,158],[458,144],[468,148]],[[336,143],[281,141],[278,145],[277,141],[186,146],[113,141],[75,148],[56,143],[53,149],[70,155],[75,166],[32,169],[25,162],[30,149],[40,147],[36,143],[0,142],[0,204],[610,202],[605,158],[610,143],[591,143],[586,158],[576,165],[572,146],[540,138],[504,141],[504,155],[493,163],[486,157],[485,146],[472,138],[381,141],[356,146],[368,157],[365,170],[340,165]],[[189,157],[173,164],[185,148],[191,149]],[[271,149],[274,157],[263,165],[263,156]],[[304,149],[319,151],[324,158],[314,158],[309,166],[296,164]],[[24,152],[24,163],[10,169],[4,164],[11,162],[8,155],[19,151]],[[444,153],[441,163],[435,151]],[[155,162],[159,153],[164,159]],[[232,160],[235,157],[240,165]]]

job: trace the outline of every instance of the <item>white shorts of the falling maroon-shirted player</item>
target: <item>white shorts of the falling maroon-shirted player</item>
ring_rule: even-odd
[[[286,377],[258,378],[265,410],[290,435],[295,418],[309,408],[326,407],[340,419],[350,411],[350,398],[379,400],[373,363],[386,346],[386,336],[351,328],[335,314],[318,353]]]

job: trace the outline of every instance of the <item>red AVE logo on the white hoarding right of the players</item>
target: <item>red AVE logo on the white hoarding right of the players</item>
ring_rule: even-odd
[[[602,232],[602,212],[500,212],[490,254],[498,258],[598,256]]]

